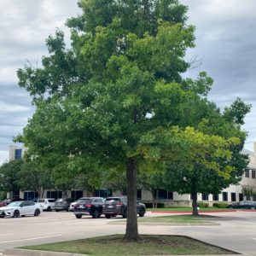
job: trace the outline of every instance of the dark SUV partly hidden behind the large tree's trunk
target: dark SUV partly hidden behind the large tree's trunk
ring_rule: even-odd
[[[137,214],[143,217],[145,212],[145,205],[137,202]],[[122,215],[123,218],[127,218],[127,197],[108,197],[103,205],[103,214],[105,214],[106,218],[115,217],[117,215]]]

